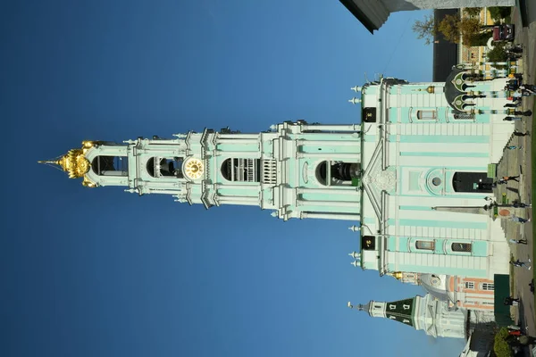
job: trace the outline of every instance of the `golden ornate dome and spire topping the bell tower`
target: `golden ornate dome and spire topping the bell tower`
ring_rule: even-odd
[[[96,187],[96,184],[85,176],[91,168],[91,163],[85,154],[95,144],[96,142],[84,141],[81,149],[71,149],[57,160],[42,160],[38,163],[57,165],[61,170],[67,172],[69,179],[84,178],[82,185]]]

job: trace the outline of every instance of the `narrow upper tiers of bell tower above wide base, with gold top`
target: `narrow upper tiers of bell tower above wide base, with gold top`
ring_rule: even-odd
[[[282,220],[359,220],[361,125],[272,125],[244,134],[229,128],[84,141],[53,161],[86,187],[122,186],[175,201],[259,206]]]

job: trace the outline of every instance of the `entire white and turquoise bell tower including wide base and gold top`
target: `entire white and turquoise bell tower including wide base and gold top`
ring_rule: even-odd
[[[359,124],[283,122],[261,133],[230,129],[85,141],[54,161],[87,187],[172,195],[205,208],[240,204],[281,220],[361,222],[356,264],[492,279],[508,272],[499,220],[482,206],[490,164],[513,132],[503,118],[506,79],[455,69],[447,83],[381,79],[353,89]]]

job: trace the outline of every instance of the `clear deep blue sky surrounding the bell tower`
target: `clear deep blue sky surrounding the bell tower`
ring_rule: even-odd
[[[431,79],[422,12],[374,36],[337,0],[0,5],[0,355],[448,356],[354,303],[421,293],[353,268],[348,224],[88,189],[36,162],[83,139],[359,120],[364,73]],[[454,349],[452,349],[454,348]]]

